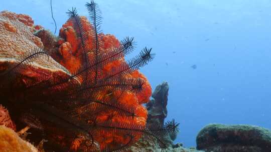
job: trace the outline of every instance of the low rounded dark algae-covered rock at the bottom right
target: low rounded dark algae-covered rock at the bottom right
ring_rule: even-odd
[[[271,131],[253,125],[209,124],[197,135],[197,149],[213,152],[269,152]]]

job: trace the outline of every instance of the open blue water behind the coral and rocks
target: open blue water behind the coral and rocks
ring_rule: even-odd
[[[180,122],[176,142],[195,146],[208,123],[271,129],[271,1],[146,1],[96,0],[105,33],[134,36],[138,51],[156,52],[141,71],[153,89],[169,82],[168,119]],[[86,2],[53,0],[58,29],[72,6],[87,15]],[[29,14],[54,31],[50,0],[1,0],[0,10]]]

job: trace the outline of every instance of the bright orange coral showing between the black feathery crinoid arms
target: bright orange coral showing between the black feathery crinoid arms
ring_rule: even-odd
[[[83,26],[83,29],[87,32],[92,30],[92,25],[88,22],[87,18],[84,16],[80,16],[81,24]],[[72,27],[72,21],[69,19],[60,29],[60,36],[64,39],[60,39],[59,43],[61,44],[59,47],[59,52],[62,54],[62,60],[60,63],[65,66],[67,69],[72,70],[79,68],[80,66],[80,52],[78,51],[78,43],[80,43],[80,40],[77,38],[77,35]],[[99,34],[99,37],[102,37],[102,54],[106,54],[108,51],[111,50],[111,48],[116,48],[120,45],[120,42],[116,39],[115,36],[110,34]],[[87,33],[86,38],[86,47],[92,49],[92,35],[91,33]],[[93,60],[94,58],[89,55],[89,60]],[[125,63],[124,57],[118,60],[113,60],[110,63],[103,66],[103,72],[101,75],[105,75],[107,72],[110,72],[114,68],[120,66],[122,63]],[[122,115],[118,112],[114,112],[114,109],[105,109],[103,112],[100,112],[96,119],[99,122],[106,122],[108,120],[117,123],[127,123],[130,125],[137,124],[141,125],[142,127],[145,126],[146,120],[147,120],[147,110],[146,108],[141,105],[142,103],[146,103],[149,101],[149,97],[151,96],[151,85],[148,82],[147,78],[140,73],[138,70],[135,70],[131,74],[125,75],[127,78],[142,78],[145,80],[145,83],[143,84],[142,91],[140,92],[129,92],[124,91],[122,92],[123,97],[119,100],[119,104],[123,104],[124,106],[127,106],[131,109],[134,109],[135,114],[137,117],[134,117],[133,119],[130,119],[129,116]],[[97,98],[102,99],[104,97],[114,97],[114,94],[118,94],[119,92],[113,91],[108,92],[107,90],[103,90],[99,92],[99,97]],[[90,122],[91,123],[91,122]],[[104,149],[108,143],[115,142],[115,143],[126,143],[125,140],[125,134],[122,134],[121,131],[118,133],[112,133],[111,130],[104,130],[104,129],[97,129],[96,132],[93,134],[97,134],[95,136],[95,141],[97,141],[100,145],[101,149]],[[140,138],[141,134],[135,134],[134,139]],[[79,146],[81,139],[75,139],[73,141],[73,146],[71,146],[72,149],[77,149]]]

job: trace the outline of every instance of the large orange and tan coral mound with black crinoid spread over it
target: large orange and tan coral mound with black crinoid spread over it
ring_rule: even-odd
[[[0,13],[0,124],[27,125],[33,141],[59,151],[125,151],[140,138],[167,149],[163,136],[178,124],[148,125],[142,105],[152,89],[138,69],[152,48],[125,60],[134,39],[103,34],[98,5],[86,8],[88,19],[67,12],[58,38],[28,15]]]

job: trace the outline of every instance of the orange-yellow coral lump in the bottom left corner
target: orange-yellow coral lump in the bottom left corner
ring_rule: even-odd
[[[14,130],[0,125],[0,151],[38,152],[38,149],[29,142],[21,139]]]

